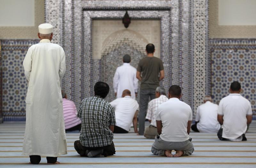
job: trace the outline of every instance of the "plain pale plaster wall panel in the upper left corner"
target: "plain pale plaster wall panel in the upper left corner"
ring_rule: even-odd
[[[35,0],[0,0],[0,26],[34,26]]]

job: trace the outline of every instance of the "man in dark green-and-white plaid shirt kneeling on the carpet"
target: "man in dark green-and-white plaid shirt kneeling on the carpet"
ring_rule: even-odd
[[[80,140],[74,147],[80,156],[106,157],[116,153],[113,140],[116,125],[115,109],[104,98],[109,86],[104,82],[94,85],[94,96],[82,100],[77,117],[82,120]]]

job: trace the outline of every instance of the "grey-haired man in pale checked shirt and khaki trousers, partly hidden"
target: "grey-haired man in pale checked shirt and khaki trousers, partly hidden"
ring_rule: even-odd
[[[148,139],[155,139],[155,136],[157,135],[156,110],[160,104],[168,100],[165,95],[166,92],[164,87],[159,86],[156,88],[156,99],[153,99],[148,103],[146,119],[148,119],[150,125],[144,131],[144,136]]]

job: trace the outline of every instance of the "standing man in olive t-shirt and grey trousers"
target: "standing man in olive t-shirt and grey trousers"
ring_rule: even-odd
[[[161,59],[154,57],[155,46],[146,46],[147,57],[142,58],[137,68],[136,77],[140,80],[140,113],[139,113],[139,135],[144,134],[145,116],[148,107],[148,97],[155,99],[155,91],[159,81],[164,79],[164,66]],[[141,77],[142,73],[142,77]],[[160,77],[158,77],[160,73]]]

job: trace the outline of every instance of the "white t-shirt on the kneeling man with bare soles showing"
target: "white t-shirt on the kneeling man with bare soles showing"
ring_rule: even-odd
[[[171,98],[158,106],[156,120],[162,121],[161,139],[168,142],[183,142],[189,139],[188,121],[192,121],[191,107],[178,98]]]

